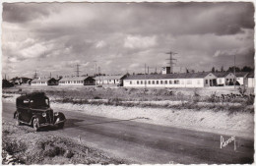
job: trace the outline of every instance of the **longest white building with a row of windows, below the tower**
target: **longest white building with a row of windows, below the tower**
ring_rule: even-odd
[[[123,81],[127,87],[205,87],[216,86],[217,77],[211,72],[164,75],[134,75]]]

